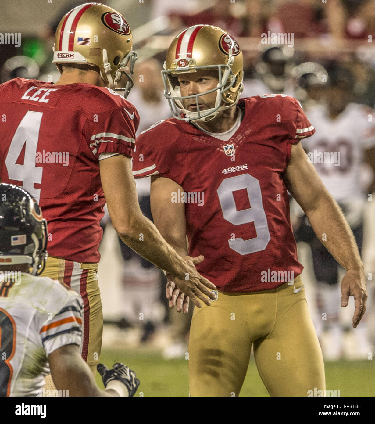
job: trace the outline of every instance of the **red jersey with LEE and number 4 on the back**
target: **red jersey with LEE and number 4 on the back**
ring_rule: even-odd
[[[99,262],[101,153],[132,157],[139,116],[108,88],[15,78],[0,85],[2,182],[24,187],[48,222],[48,252]]]

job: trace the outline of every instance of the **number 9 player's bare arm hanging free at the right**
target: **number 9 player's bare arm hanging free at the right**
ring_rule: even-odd
[[[341,282],[341,306],[346,307],[349,296],[354,297],[356,310],[353,327],[356,328],[366,311],[364,265],[349,224],[319,178],[314,165],[308,161],[301,143],[292,145],[284,181],[308,217],[319,240],[347,271]]]

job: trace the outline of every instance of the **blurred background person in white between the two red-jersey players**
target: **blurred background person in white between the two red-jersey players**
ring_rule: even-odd
[[[168,103],[164,100],[162,67],[158,60],[147,59],[137,63],[133,75],[134,87],[128,97],[139,113],[139,135],[153,123],[171,116]],[[150,180],[136,180],[139,206],[143,214],[152,220],[150,209]],[[122,268],[122,314],[126,321],[144,324],[141,341],[148,340],[156,326],[164,318],[164,307],[160,302],[161,271],[140,257],[119,239],[124,266]],[[143,321],[139,320],[143,313]]]

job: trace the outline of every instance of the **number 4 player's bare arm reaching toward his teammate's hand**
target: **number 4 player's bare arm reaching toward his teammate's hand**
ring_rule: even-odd
[[[210,290],[215,290],[215,286],[200,276],[192,260],[179,256],[156,226],[142,214],[130,159],[118,155],[101,160],[100,179],[112,224],[121,240],[158,268],[170,273],[197,307],[201,307],[198,298],[210,305],[206,296],[211,296]]]

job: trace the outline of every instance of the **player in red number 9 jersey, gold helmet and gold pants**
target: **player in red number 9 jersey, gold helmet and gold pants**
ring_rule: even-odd
[[[253,346],[271,396],[308,396],[325,390],[324,364],[300,276],[288,190],[347,270],[341,304],[354,296],[354,327],[366,309],[364,267],[341,210],[299,142],[314,127],[286,95],[239,100],[242,66],[238,43],[220,28],[181,32],[162,72],[174,118],[137,138],[133,175],[151,176],[156,226],[179,254],[203,254],[197,269],[218,288],[212,306],[193,313],[190,394],[237,396]],[[169,306],[177,299],[186,312],[188,302],[174,283],[167,284]]]

